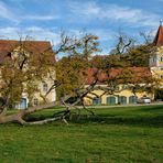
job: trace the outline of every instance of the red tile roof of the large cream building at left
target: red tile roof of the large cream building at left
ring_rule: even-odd
[[[22,45],[30,54],[52,54],[52,59],[55,59],[51,43],[47,41],[13,41],[0,40],[0,62],[8,56],[14,48]]]

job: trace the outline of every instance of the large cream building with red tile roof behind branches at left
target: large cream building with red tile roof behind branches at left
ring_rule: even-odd
[[[18,58],[22,59],[21,58],[23,57],[22,54],[25,55],[25,57],[41,56],[41,58],[46,57],[46,54],[48,54],[47,57],[50,65],[52,65],[52,63],[53,64],[55,63],[55,55],[53,53],[50,42],[0,40],[0,64],[3,64],[7,57],[9,57],[11,61]],[[20,55],[22,56],[20,57]],[[42,67],[42,65],[39,64],[40,63],[37,62],[37,66]],[[25,66],[26,68],[30,68],[28,63]],[[50,74],[47,74],[46,76],[44,76],[44,78],[42,78],[42,80],[36,80],[34,83],[34,86],[36,87],[37,91],[34,91],[34,95],[32,97],[30,97],[29,94],[25,91],[25,84],[24,84],[24,91],[22,93],[20,101],[15,102],[15,108],[25,109],[29,107],[29,105],[39,106],[44,101],[46,102],[55,101],[56,100],[55,89],[53,89],[52,91],[50,91],[50,94],[47,94],[51,86],[54,85],[55,72],[52,72],[52,74],[51,77]],[[44,96],[45,98],[43,99]]]

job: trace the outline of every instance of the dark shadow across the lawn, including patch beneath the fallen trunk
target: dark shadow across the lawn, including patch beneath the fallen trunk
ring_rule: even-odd
[[[44,116],[33,116],[28,117],[28,121],[37,121],[43,120],[47,117]],[[48,117],[50,118],[50,117]],[[161,128],[163,127],[163,115],[161,116],[113,116],[113,115],[95,115],[95,116],[88,116],[88,115],[80,115],[79,117],[77,115],[73,115],[70,120],[72,123],[79,123],[79,124],[86,124],[86,123],[104,123],[104,124],[126,124],[126,126],[138,126],[138,127],[155,127]]]

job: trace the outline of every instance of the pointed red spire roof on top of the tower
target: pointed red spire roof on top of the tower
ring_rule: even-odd
[[[153,41],[153,44],[156,46],[163,46],[163,26],[160,25]]]

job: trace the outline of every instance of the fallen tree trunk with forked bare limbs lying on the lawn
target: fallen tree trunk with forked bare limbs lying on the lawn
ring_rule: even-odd
[[[44,123],[48,123],[48,122],[52,122],[52,121],[56,121],[56,120],[63,120],[65,123],[67,123],[66,121],[66,117],[69,117],[70,116],[70,112],[73,110],[80,110],[82,108],[78,108],[76,107],[76,105],[78,102],[82,102],[83,105],[83,109],[91,112],[94,115],[93,111],[88,110],[85,105],[84,105],[84,97],[87,96],[87,94],[89,94],[90,91],[94,90],[94,87],[96,85],[97,80],[94,82],[89,87],[87,88],[83,88],[82,91],[77,91],[76,95],[77,95],[77,99],[76,101],[74,101],[73,104],[66,104],[66,100],[68,98],[70,98],[72,96],[70,95],[67,95],[65,97],[63,97],[61,99],[61,101],[57,101],[57,102],[52,102],[52,104],[46,104],[46,105],[43,105],[43,106],[36,106],[36,107],[30,107],[28,109],[24,109],[24,110],[20,110],[15,113],[12,113],[12,115],[6,115],[6,113],[0,113],[0,123],[7,123],[7,122],[18,122],[20,124],[44,124]],[[28,116],[28,115],[31,115],[31,113],[34,113],[36,111],[41,111],[41,110],[44,110],[44,109],[47,109],[47,108],[52,108],[52,107],[55,107],[58,105],[58,102],[63,104],[65,106],[65,109],[63,111],[58,111],[56,113],[53,115],[52,118],[47,118],[47,119],[44,119],[44,120],[39,120],[39,121],[25,121],[24,120],[24,117]]]

